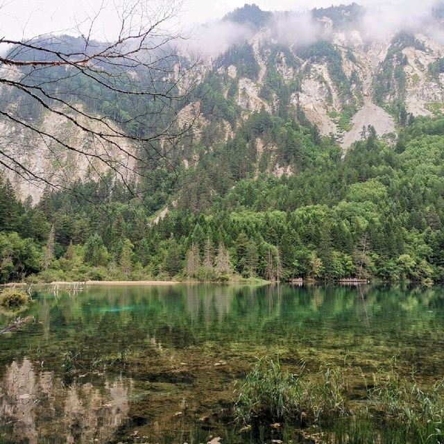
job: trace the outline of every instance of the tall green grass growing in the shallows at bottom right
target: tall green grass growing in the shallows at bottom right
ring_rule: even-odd
[[[356,398],[343,368],[324,366],[308,373],[300,366],[295,374],[264,357],[239,388],[234,413],[253,428],[279,421],[323,430],[333,439],[316,442],[444,443],[444,379],[422,387],[413,375],[405,377],[391,368],[373,374],[373,384],[365,377],[364,382],[365,391],[359,388]]]

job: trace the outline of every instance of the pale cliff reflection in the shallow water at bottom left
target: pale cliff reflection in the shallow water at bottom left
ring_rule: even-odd
[[[2,443],[106,442],[128,417],[131,381],[65,386],[29,359],[12,361],[0,382]]]

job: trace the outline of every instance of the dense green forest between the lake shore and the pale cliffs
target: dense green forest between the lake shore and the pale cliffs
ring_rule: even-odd
[[[258,135],[275,142],[295,173],[255,175]],[[444,119],[418,117],[394,146],[363,128],[341,159],[310,123],[259,112],[182,175],[175,205],[158,221],[151,196],[140,201],[118,182],[46,189],[32,206],[3,177],[0,280],[439,282],[443,146]]]

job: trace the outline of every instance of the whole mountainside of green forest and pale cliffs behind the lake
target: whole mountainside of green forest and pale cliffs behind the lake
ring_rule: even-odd
[[[427,29],[441,26],[438,12]],[[2,118],[5,152],[22,150],[56,187],[0,172],[0,281],[444,280],[444,46],[402,30],[370,39],[366,13],[356,4],[309,15],[234,10],[219,25],[245,38],[180,82],[151,79],[174,94],[194,85],[169,108],[155,97],[114,101],[89,80],[63,78],[65,67],[15,72],[31,88],[53,84],[60,109],[112,118],[129,135],[134,174],[79,162]],[[305,40],[282,34],[302,22]],[[191,59],[180,49],[164,63],[178,72]],[[128,78],[142,85],[150,73]],[[38,94],[3,86],[0,101],[96,149]],[[137,143],[191,121],[174,144]]]

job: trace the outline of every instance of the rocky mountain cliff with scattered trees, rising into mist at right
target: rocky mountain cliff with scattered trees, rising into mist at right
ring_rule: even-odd
[[[254,17],[264,12],[245,6],[225,20],[250,17],[250,37],[208,58],[203,77],[209,83],[219,78],[221,94],[241,117],[262,108],[273,114],[282,107],[300,108],[321,134],[334,135],[343,148],[360,139],[363,126],[391,135],[408,114],[440,112],[444,46],[429,35],[395,29],[369,37],[360,20],[364,12],[355,4],[313,10],[315,31],[305,32],[316,35],[301,43],[298,29],[290,28],[292,37],[284,44],[276,27],[303,26],[306,17],[275,14],[261,22]],[[435,26],[441,26],[435,19]],[[203,117],[209,119],[211,113],[203,112]],[[225,116],[224,128],[228,121]],[[196,127],[198,134],[202,126],[205,119]]]

